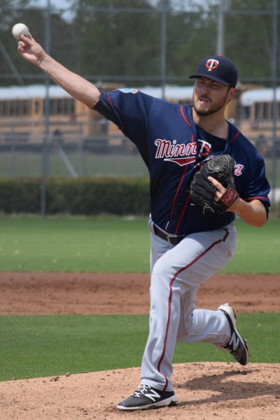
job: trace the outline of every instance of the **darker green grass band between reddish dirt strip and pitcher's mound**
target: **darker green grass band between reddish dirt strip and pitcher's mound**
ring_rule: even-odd
[[[239,314],[253,363],[280,363],[280,314]],[[141,365],[147,315],[0,316],[0,381]],[[234,361],[210,344],[177,344],[174,363]]]

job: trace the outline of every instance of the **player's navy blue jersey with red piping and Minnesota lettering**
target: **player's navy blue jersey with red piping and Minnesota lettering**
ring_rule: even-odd
[[[150,172],[151,218],[170,234],[214,230],[235,219],[231,211],[211,214],[190,200],[190,182],[197,165],[211,156],[232,155],[240,197],[258,199],[268,209],[270,187],[264,161],[234,125],[228,123],[227,141],[211,139],[197,130],[192,106],[173,104],[137,89],[101,92],[94,109],[118,125],[137,146]]]

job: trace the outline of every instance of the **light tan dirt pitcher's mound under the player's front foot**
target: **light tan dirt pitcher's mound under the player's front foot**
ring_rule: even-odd
[[[174,365],[179,403],[141,412],[116,404],[139,384],[140,369],[92,372],[0,383],[5,420],[174,419],[279,420],[277,364],[184,363]]]

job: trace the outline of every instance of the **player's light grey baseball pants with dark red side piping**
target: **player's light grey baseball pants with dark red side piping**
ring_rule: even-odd
[[[225,244],[225,239],[230,238],[228,230],[190,235],[155,262],[151,276],[150,332],[141,369],[142,384],[172,390],[172,358],[181,318],[181,297],[189,290],[196,291],[200,283],[228,263],[235,247],[235,234],[232,235],[230,246]],[[215,314],[216,311],[211,311],[211,322],[209,314],[203,312],[195,317],[202,325],[190,321],[195,311],[195,291],[190,293],[190,301],[186,303],[187,335],[192,328],[193,337],[196,336],[194,341],[211,342],[211,335],[223,335],[226,323],[221,314]],[[200,330],[196,332],[195,328]]]

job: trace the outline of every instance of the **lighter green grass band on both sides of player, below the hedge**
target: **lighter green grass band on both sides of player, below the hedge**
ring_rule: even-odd
[[[223,272],[280,273],[280,219],[236,221],[237,250]],[[2,216],[0,272],[148,272],[148,218]]]

